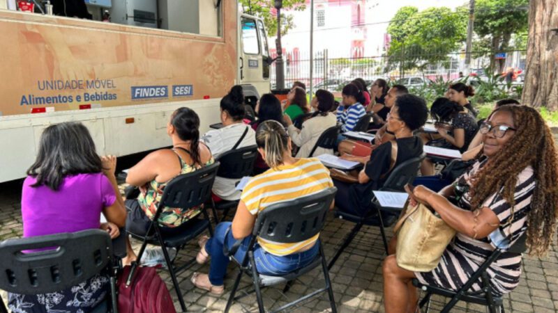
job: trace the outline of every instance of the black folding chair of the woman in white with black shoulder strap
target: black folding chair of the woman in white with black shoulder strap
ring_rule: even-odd
[[[218,157],[221,166],[219,167],[217,176],[228,179],[241,179],[242,177],[252,175],[257,154],[256,145],[237,148],[221,154]],[[211,205],[214,209],[223,211],[223,218],[221,219],[224,219],[230,209],[238,207],[239,200],[221,200],[215,202],[211,199]],[[217,221],[217,216],[215,216],[215,218]]]

